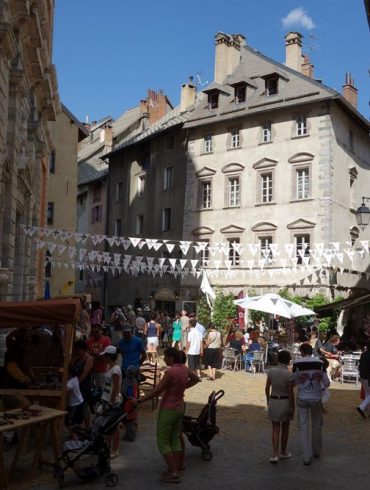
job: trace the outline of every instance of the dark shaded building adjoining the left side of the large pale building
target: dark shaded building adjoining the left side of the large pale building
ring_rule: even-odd
[[[181,258],[178,247],[169,251],[170,242],[183,236],[185,206],[185,181],[187,164],[187,137],[182,131],[197,103],[196,88],[192,83],[182,86],[181,103],[141,132],[136,137],[118,145],[105,159],[109,160],[108,234],[133,238],[161,237],[168,247],[149,255],[166,261]],[[118,189],[122,189],[119,193]],[[109,249],[122,252],[122,247]],[[134,251],[125,254],[147,254]],[[137,274],[108,275],[105,304],[115,305],[143,302],[157,309],[175,311],[180,297],[180,275],[162,274],[150,277]]]

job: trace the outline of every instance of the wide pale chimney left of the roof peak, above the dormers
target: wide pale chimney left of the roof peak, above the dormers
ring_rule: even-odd
[[[218,32],[215,39],[214,81],[222,84],[225,78],[233,73],[240,62],[240,48],[245,44],[245,37],[242,34]]]

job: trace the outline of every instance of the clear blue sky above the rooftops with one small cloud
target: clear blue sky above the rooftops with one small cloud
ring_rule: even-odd
[[[301,32],[315,77],[341,90],[345,72],[370,116],[370,31],[363,0],[57,0],[54,63],[62,101],[82,121],[118,117],[162,89],[179,102],[191,74],[213,79],[214,35],[242,33],[285,61],[284,34]],[[284,20],[285,19],[285,20]]]

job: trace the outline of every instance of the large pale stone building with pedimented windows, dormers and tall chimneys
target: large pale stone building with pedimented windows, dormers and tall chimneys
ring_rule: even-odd
[[[207,243],[201,261],[211,284],[234,294],[289,287],[302,295],[334,295],[335,289],[366,287],[348,261],[341,274],[292,271],[292,261],[300,264],[318,244],[358,243],[354,211],[367,193],[370,125],[357,111],[351,76],[339,94],[313,78],[301,35],[285,40],[282,65],[245,45],[243,36],[217,34],[215,81],[184,124],[183,236]],[[362,240],[368,237],[361,233]],[[229,244],[226,253],[222,243]],[[293,249],[290,269],[282,271],[272,252],[274,246],[284,252],[285,244]],[[358,266],[366,272],[368,260]],[[225,277],[230,267],[236,273]],[[182,281],[182,296],[198,294],[199,280]]]

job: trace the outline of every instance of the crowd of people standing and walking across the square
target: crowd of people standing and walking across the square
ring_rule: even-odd
[[[88,313],[86,315],[86,313]],[[101,307],[81,314],[82,327],[74,343],[68,390],[69,437],[76,438],[76,427],[89,429],[94,417],[101,411],[118,407],[130,400],[132,409],[125,424],[123,439],[134,441],[137,425],[137,404],[161,395],[157,419],[157,442],[167,464],[162,473],[164,482],[180,481],[184,467],[184,442],[181,420],[184,414],[184,391],[204,379],[214,381],[220,367],[223,347],[230,347],[243,358],[246,369],[252,370],[256,351],[267,349],[268,336],[261,335],[260,326],[248,326],[245,331],[231,329],[223,335],[213,323],[205,328],[196,314],[179,312],[173,319],[167,313],[158,313],[130,305],[116,308],[108,324],[104,323]],[[7,379],[14,377],[13,386],[27,386],[29,378],[23,373],[22,353],[37,343],[35,338],[12,334],[7,354]],[[339,337],[330,331],[322,338],[312,325],[296,332],[300,357],[291,363],[291,353],[280,350],[277,366],[267,371],[265,394],[268,417],[272,423],[271,463],[291,457],[288,451],[289,424],[297,410],[298,428],[303,452],[303,463],[311,464],[321,454],[321,427],[323,395],[330,381],[340,373],[341,349],[358,348],[348,332]],[[18,347],[15,348],[14,346]],[[26,347],[24,347],[26,345]],[[140,398],[140,366],[148,360],[158,360],[157,350],[164,348],[167,370],[153,391]],[[120,364],[118,364],[120,362]],[[16,364],[16,365],[15,365]],[[202,365],[206,378],[202,377]],[[357,407],[367,418],[370,407],[370,342],[361,355],[359,372],[364,391],[363,402]],[[296,387],[296,395],[294,388]],[[138,401],[140,400],[140,401]],[[309,429],[311,421],[311,429]],[[110,456],[119,455],[122,427],[110,438]],[[312,434],[310,435],[310,431]]]

